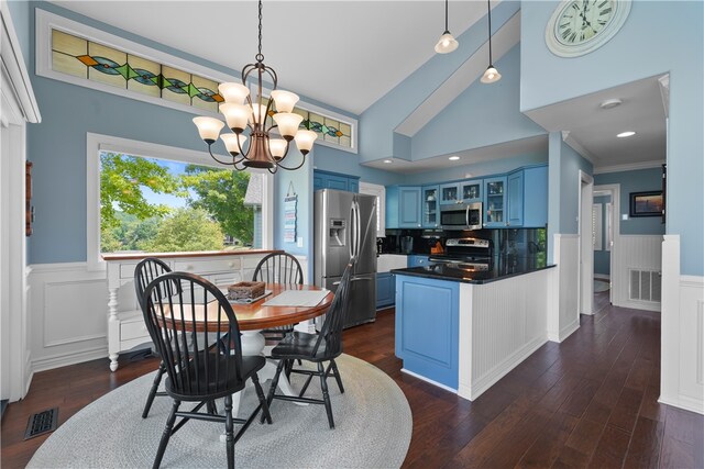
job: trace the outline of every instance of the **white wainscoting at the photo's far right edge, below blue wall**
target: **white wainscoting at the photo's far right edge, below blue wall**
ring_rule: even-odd
[[[704,277],[680,275],[680,236],[662,243],[659,402],[704,414]]]

